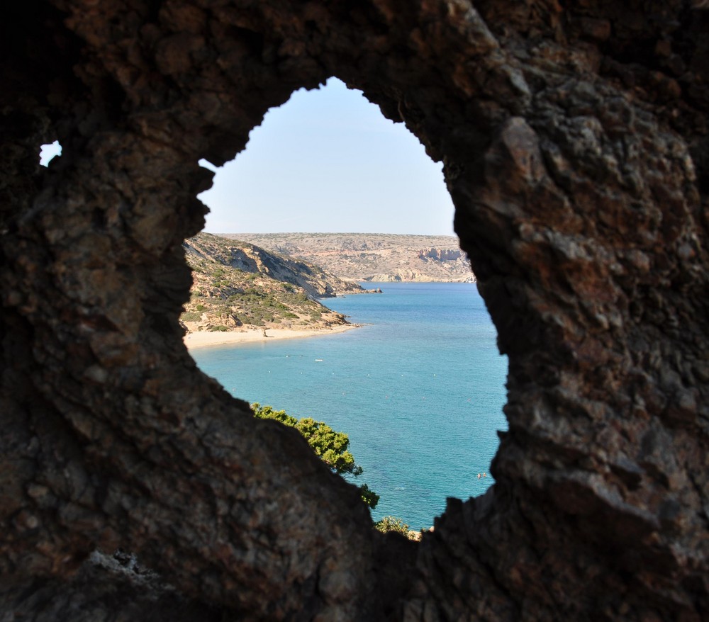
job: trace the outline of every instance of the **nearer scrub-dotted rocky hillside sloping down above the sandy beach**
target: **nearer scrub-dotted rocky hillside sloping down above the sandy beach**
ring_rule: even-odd
[[[347,324],[314,298],[362,291],[305,261],[208,233],[186,240],[184,249],[193,284],[180,320],[189,332]]]

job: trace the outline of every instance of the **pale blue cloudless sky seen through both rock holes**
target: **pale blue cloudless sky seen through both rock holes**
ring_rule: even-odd
[[[199,195],[210,233],[454,234],[441,164],[336,78],[272,108],[232,162],[202,163],[216,170]]]

